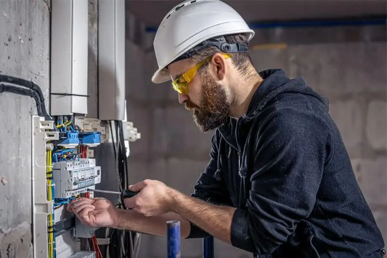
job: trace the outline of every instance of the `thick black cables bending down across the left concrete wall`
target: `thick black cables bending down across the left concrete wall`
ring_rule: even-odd
[[[19,88],[13,85],[6,85],[3,83],[18,85],[23,88]],[[47,113],[43,92],[41,91],[40,87],[37,86],[37,84],[35,84],[34,82],[9,75],[0,74],[0,93],[1,92],[11,92],[34,98],[37,105],[37,114],[39,116],[43,116],[47,121],[53,120],[52,117],[49,116]]]

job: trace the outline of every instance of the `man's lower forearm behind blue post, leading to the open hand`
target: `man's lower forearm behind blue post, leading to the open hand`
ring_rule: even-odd
[[[166,236],[166,221],[180,221],[180,235],[186,238],[190,232],[190,223],[186,219],[170,212],[160,216],[145,217],[134,210],[118,210],[116,222],[112,227],[156,236]]]

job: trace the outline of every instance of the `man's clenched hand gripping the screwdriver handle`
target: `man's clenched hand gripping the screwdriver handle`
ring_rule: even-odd
[[[129,190],[139,192],[124,200],[125,206],[144,216],[155,216],[169,212],[173,202],[172,189],[156,180],[144,180],[130,185]]]

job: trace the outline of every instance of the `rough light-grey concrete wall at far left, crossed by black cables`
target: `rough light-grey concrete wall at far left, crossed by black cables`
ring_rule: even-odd
[[[37,83],[48,102],[49,0],[0,1],[0,74]],[[49,107],[48,103],[46,107]],[[0,93],[0,257],[31,257],[31,115],[35,101]]]

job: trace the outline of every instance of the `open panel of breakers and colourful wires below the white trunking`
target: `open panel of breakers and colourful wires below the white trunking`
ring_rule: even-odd
[[[101,143],[101,131],[84,131],[71,115],[53,119],[33,117],[34,258],[68,258],[89,251],[89,241],[80,239],[97,246],[96,228],[83,225],[66,205],[78,197],[92,198],[89,190],[101,182],[101,167],[89,157],[91,148]],[[75,257],[100,257],[81,256],[86,254]]]

